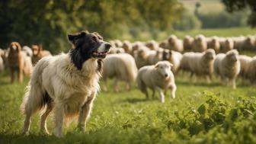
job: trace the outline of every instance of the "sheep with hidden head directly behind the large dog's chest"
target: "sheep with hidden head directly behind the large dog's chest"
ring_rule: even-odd
[[[118,81],[125,81],[127,83],[126,89],[130,90],[138,72],[133,56],[128,53],[109,54],[104,59],[103,69],[104,82],[107,83],[107,78],[115,78],[115,91],[119,91]],[[107,88],[105,87],[104,90],[107,91]]]

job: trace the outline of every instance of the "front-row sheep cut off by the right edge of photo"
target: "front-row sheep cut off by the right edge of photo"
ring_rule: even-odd
[[[251,82],[251,84],[256,84],[256,56],[251,59],[248,63],[248,69],[246,71],[245,77]]]

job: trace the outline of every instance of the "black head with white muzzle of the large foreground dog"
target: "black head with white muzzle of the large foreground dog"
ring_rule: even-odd
[[[82,69],[82,64],[88,59],[104,59],[110,50],[110,43],[103,40],[98,33],[82,31],[78,34],[68,34],[73,49],[70,50],[72,62],[77,69]]]

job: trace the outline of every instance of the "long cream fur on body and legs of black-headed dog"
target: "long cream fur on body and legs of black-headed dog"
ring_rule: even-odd
[[[83,63],[82,70],[76,69],[69,54],[47,56],[34,67],[34,72],[27,87],[24,101],[21,104],[26,115],[23,133],[27,133],[30,117],[38,110],[43,110],[43,96],[48,92],[53,100],[47,104],[46,111],[41,116],[40,130],[48,133],[46,117],[54,110],[54,134],[63,136],[63,119],[79,114],[78,128],[85,131],[85,122],[91,113],[94,98],[99,91],[96,59],[88,59]]]

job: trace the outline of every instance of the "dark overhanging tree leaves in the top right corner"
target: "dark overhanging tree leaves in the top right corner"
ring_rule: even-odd
[[[226,5],[226,10],[229,12],[242,11],[245,8],[251,9],[251,14],[248,17],[248,24],[251,27],[256,27],[256,1],[255,0],[222,0]]]

